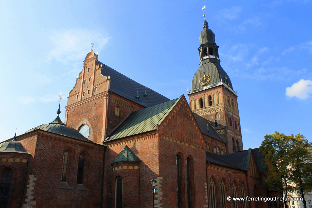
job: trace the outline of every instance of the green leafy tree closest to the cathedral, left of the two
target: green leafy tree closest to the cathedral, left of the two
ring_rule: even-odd
[[[267,134],[264,136],[264,140],[261,143],[260,151],[264,156],[264,162],[266,164],[265,171],[267,177],[264,183],[271,188],[277,188],[287,196],[294,190],[294,187],[290,185],[290,179],[292,177],[290,166],[290,152],[291,136],[286,136],[275,131],[275,134]],[[284,207],[286,207],[286,201],[284,201]]]

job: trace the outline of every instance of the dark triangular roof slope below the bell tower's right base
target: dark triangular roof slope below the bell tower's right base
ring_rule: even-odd
[[[239,151],[231,154],[226,155],[220,155],[220,158],[229,161],[232,164],[235,164],[236,166],[239,166],[246,171],[248,171],[249,168],[249,161],[251,157],[251,149],[244,151]]]

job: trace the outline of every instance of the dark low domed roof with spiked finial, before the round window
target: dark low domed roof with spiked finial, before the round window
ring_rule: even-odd
[[[73,139],[78,139],[81,141],[87,141],[87,142],[92,142],[90,140],[88,140],[87,138],[85,138],[84,136],[82,136],[76,129],[66,126],[60,119],[59,116],[56,117],[56,119],[54,119],[54,121],[52,121],[49,124],[42,124],[40,126],[37,126],[35,128],[32,128],[28,131],[26,131],[25,133],[31,132],[31,131],[35,131],[37,129],[43,130],[43,131],[49,131],[52,133],[56,133],[56,134],[60,134],[63,136],[68,136],[71,137]],[[93,142],[92,142],[93,143]]]

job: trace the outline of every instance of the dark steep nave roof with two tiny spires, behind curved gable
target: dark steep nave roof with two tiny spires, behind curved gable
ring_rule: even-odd
[[[97,61],[96,64],[102,64],[103,69],[101,70],[101,73],[103,76],[110,76],[110,91],[117,95],[127,98],[144,107],[154,106],[170,100],[148,87],[145,88],[145,86],[133,81],[129,77],[124,76],[99,61]],[[144,96],[145,90],[147,96]],[[136,99],[137,93],[139,93],[139,100]]]

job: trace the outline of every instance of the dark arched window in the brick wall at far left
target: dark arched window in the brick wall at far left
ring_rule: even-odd
[[[2,173],[0,184],[0,207],[6,208],[9,200],[12,172],[7,170]]]

